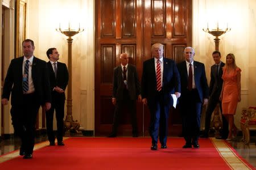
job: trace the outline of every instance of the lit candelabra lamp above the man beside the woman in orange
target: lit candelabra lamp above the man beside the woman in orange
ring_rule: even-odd
[[[217,23],[217,28],[214,29],[209,29],[208,24],[207,28],[203,28],[204,32],[208,32],[210,35],[215,36],[214,42],[215,42],[215,50],[219,50],[218,46],[220,44],[220,39],[218,38],[219,36],[223,35],[224,33],[230,31],[231,28],[228,28],[228,25],[226,26],[225,29],[220,29],[218,28],[218,23]]]

